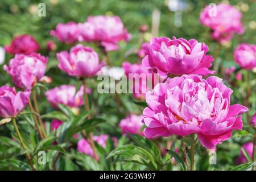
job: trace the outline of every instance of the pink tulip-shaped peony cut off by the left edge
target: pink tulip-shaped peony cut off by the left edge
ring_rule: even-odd
[[[0,87],[0,115],[3,118],[15,118],[26,107],[30,90],[16,93],[10,86]]]

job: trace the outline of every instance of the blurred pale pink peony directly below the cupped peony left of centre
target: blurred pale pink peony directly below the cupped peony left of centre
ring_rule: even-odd
[[[90,89],[86,90],[90,93]],[[76,94],[76,95],[75,95]],[[79,107],[84,104],[83,101],[84,86],[81,86],[76,93],[76,86],[74,85],[61,85],[46,92],[48,102],[55,108],[58,104],[63,104],[69,107]]]

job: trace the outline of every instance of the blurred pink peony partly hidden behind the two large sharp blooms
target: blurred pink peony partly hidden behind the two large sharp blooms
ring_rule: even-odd
[[[122,67],[126,77],[133,80],[134,97],[144,100],[148,91],[148,82],[151,82],[152,88],[155,86],[154,72],[144,68],[142,64],[130,64],[126,61],[123,62]]]

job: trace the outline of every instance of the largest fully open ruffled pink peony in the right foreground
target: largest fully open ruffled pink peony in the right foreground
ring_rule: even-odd
[[[197,134],[204,147],[215,148],[229,139],[233,130],[242,129],[240,114],[248,111],[240,104],[230,105],[232,92],[215,76],[204,80],[198,75],[184,75],[158,84],[154,92],[146,94],[144,135]]]

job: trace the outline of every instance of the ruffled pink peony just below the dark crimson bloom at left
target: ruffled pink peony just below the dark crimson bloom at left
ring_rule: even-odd
[[[4,65],[3,68],[13,77],[15,86],[31,89],[44,76],[47,61],[48,58],[39,53],[20,54],[10,60],[9,67]]]

